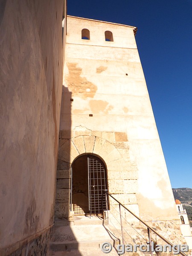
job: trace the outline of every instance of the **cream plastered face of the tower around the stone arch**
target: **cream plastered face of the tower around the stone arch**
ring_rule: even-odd
[[[81,39],[81,30],[85,28],[90,31],[90,40]],[[113,42],[105,41],[105,31],[108,30],[113,33]],[[84,132],[94,131],[95,136],[100,133],[101,140],[107,136],[108,142],[113,143],[119,151],[119,144],[114,143],[118,142],[118,138],[114,137],[117,134],[120,136],[119,141],[127,144],[123,151],[119,151],[119,158],[134,165],[133,170],[128,167],[125,171],[137,176],[133,191],[137,197],[135,212],[145,221],[178,220],[135,42],[135,30],[131,26],[68,17],[60,124],[61,147],[65,147],[62,139],[87,135],[82,129],[76,135],[77,130],[84,127]],[[79,148],[79,144],[66,145],[70,145],[67,148],[71,147],[71,155],[69,154],[68,160],[63,161],[72,163],[76,157],[73,156],[72,148],[74,145]],[[82,142],[81,145],[83,148],[85,143]],[[86,153],[81,149],[78,149],[79,153]],[[60,153],[59,160],[62,161],[64,151],[61,149]],[[111,155],[111,159],[107,160],[111,162],[113,171],[113,160],[116,160],[114,157]],[[104,157],[103,159],[106,161]],[[135,170],[137,175],[134,175]],[[116,187],[113,194],[117,194],[117,197],[119,194],[130,193],[129,185],[121,187],[121,192],[118,192],[122,183],[128,184],[126,180],[132,179],[132,175],[125,176],[118,178],[116,175],[109,181],[109,191]]]

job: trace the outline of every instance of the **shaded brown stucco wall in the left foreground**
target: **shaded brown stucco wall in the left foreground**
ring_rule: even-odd
[[[14,250],[53,224],[63,5],[63,0],[2,1],[1,248]]]

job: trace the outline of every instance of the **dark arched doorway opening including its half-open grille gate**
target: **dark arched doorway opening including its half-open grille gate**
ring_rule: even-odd
[[[100,214],[107,209],[108,189],[105,164],[94,155],[78,157],[71,167],[71,210],[75,214]]]

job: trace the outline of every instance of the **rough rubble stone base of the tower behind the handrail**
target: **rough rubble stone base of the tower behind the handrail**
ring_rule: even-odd
[[[115,246],[117,246],[118,244],[122,244],[121,227],[120,225],[118,225],[118,223],[115,224],[113,221],[111,222],[110,219],[112,220],[111,215],[109,215],[109,224],[105,224],[105,227],[110,230],[116,237]],[[157,233],[159,233],[161,236],[171,242],[173,245],[186,245],[186,241],[180,231],[180,221],[147,221],[147,224],[155,231],[157,231]],[[127,221],[123,220],[123,236],[124,244],[131,244],[133,247],[134,244],[147,244],[147,242],[149,241],[147,227],[140,221],[130,222],[129,218],[127,218]],[[163,241],[159,236],[157,236],[157,234],[153,233],[153,231],[150,231],[150,236],[151,241],[154,242],[154,248],[158,244],[166,244],[166,242]],[[175,248],[175,250],[177,249]],[[188,250],[188,252],[186,252],[186,255],[191,255],[191,253],[192,251]],[[150,253],[145,254],[150,255]],[[139,256],[144,255],[144,253],[137,249],[137,252],[126,252],[126,255]],[[168,250],[167,252],[156,252],[155,255],[166,256],[175,255],[175,253],[173,251],[169,252]]]

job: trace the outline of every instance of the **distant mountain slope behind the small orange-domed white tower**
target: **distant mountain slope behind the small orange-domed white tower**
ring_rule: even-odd
[[[190,224],[192,224],[192,189],[179,188],[172,189],[175,200],[178,199],[186,209]]]

